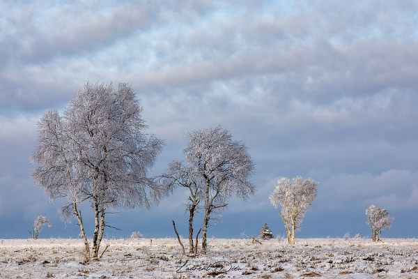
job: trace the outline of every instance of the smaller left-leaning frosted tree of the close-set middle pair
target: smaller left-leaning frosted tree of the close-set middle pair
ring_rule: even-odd
[[[197,253],[197,246],[193,242],[193,220],[194,214],[199,210],[199,203],[201,201],[202,187],[201,179],[199,179],[200,176],[196,176],[192,167],[178,160],[173,160],[169,164],[167,172],[162,174],[161,178],[164,188],[173,190],[174,188],[180,187],[186,188],[189,192],[189,198],[185,204],[185,209],[189,212],[189,252]]]

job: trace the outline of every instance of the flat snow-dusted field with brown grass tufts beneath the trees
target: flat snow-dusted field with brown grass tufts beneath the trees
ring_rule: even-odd
[[[104,239],[92,262],[82,240],[0,242],[0,278],[418,278],[417,239],[208,239],[206,256],[177,239]]]

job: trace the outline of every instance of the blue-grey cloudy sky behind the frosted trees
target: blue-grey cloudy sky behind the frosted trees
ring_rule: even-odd
[[[41,214],[41,237],[77,237],[29,156],[42,114],[88,81],[136,89],[166,142],[150,174],[182,158],[186,131],[221,125],[248,146],[256,195],[208,236],[284,234],[268,195],[297,175],[320,183],[297,236],[369,235],[371,204],[395,218],[383,236],[418,236],[417,1],[1,1],[0,27],[0,238],[29,237]],[[176,220],[186,236],[186,197],[121,210],[105,233],[173,237]]]

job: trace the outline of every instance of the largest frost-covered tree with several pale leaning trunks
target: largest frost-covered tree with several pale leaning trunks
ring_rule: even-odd
[[[31,160],[37,165],[33,183],[49,199],[64,198],[63,218],[75,216],[88,257],[98,257],[104,216],[119,207],[149,208],[162,189],[146,173],[163,142],[146,135],[142,108],[128,84],[87,83],[72,98],[63,116],[49,110],[38,123],[38,146]],[[94,213],[90,252],[81,211],[87,201]]]

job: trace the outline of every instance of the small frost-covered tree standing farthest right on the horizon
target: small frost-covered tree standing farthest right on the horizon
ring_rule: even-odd
[[[389,217],[389,211],[386,209],[379,209],[373,204],[366,209],[366,215],[366,224],[370,225],[371,228],[371,240],[373,242],[378,242],[380,241],[382,229],[390,229],[394,218]]]

